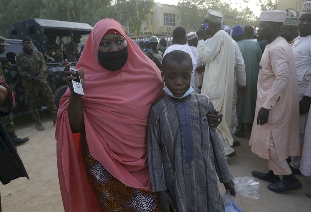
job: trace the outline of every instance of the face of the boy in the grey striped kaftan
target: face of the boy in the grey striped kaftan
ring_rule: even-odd
[[[171,93],[181,97],[190,88],[192,64],[188,61],[170,61],[162,67],[164,82]]]

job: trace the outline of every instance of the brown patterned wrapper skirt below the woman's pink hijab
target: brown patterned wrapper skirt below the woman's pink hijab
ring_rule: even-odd
[[[81,140],[82,141],[82,140]],[[161,212],[154,193],[131,188],[113,177],[82,141],[86,172],[103,212]]]

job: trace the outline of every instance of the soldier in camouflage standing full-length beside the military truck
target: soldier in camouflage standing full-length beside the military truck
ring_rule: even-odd
[[[45,75],[46,68],[43,54],[33,51],[33,42],[30,37],[24,37],[22,45],[23,52],[16,55],[16,65],[18,73],[21,76],[22,86],[25,90],[25,103],[29,107],[29,114],[36,123],[35,128],[41,131],[45,128],[40,121],[40,116],[36,108],[39,97],[53,116],[54,125],[56,122],[57,107]]]

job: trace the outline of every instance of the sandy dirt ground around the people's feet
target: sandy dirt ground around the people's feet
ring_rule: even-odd
[[[64,212],[58,184],[56,165],[55,126],[52,118],[42,114],[44,131],[35,129],[29,117],[15,120],[18,137],[29,137],[24,145],[17,146],[30,179],[26,177],[13,180],[7,185],[1,184],[3,212]],[[235,147],[237,157],[229,161],[233,177],[252,176],[252,170],[267,171],[265,159],[250,151],[249,136],[236,138],[242,145]],[[311,177],[296,175],[303,188],[284,194],[277,194],[267,189],[268,182],[260,182],[259,199],[247,199],[237,195],[236,201],[244,212],[310,212],[311,199],[305,192],[311,192]],[[219,185],[221,194],[225,189]]]

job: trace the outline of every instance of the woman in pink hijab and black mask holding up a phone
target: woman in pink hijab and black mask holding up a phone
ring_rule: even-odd
[[[56,124],[57,164],[65,212],[160,211],[147,161],[147,117],[165,95],[160,70],[113,19],[93,28]]]

